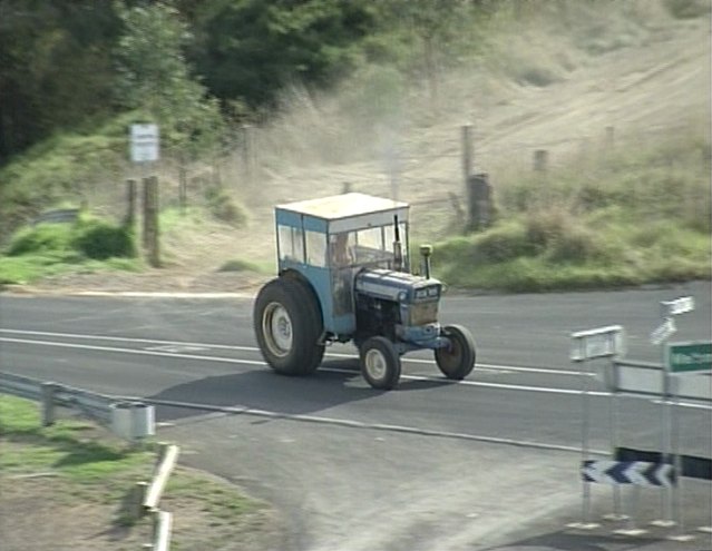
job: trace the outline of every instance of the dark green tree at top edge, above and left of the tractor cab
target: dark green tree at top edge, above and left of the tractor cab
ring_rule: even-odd
[[[285,85],[350,69],[374,27],[369,0],[216,0],[196,10],[194,59],[223,100],[270,104]]]

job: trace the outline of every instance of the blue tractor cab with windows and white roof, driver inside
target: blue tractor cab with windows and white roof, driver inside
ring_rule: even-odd
[[[324,329],[355,333],[354,277],[363,268],[409,272],[406,203],[351,193],[275,207],[279,273],[313,286]]]

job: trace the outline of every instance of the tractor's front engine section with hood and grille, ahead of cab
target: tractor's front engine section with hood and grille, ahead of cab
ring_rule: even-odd
[[[438,338],[439,281],[390,269],[364,269],[357,274],[354,287],[357,342],[382,335],[425,346]]]

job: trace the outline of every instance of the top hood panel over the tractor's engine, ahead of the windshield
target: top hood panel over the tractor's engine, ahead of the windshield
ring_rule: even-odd
[[[438,301],[442,294],[442,284],[438,279],[406,272],[363,269],[355,277],[355,291],[386,301],[414,304]]]

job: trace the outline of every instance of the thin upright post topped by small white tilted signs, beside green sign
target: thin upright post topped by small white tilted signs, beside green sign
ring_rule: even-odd
[[[680,314],[686,314],[694,309],[694,298],[692,296],[682,296],[673,301],[662,301],[660,303],[662,323],[651,333],[651,343],[661,347],[661,356],[663,366],[667,365],[666,342],[675,334],[677,327],[675,326],[674,317]],[[661,462],[669,461],[672,447],[672,414],[671,414],[671,387],[670,387],[670,373],[669,370],[662,371],[662,393],[660,405],[660,419],[661,419]],[[676,414],[676,411],[675,411]],[[679,455],[679,451],[675,455]],[[676,461],[675,461],[676,462]],[[675,484],[672,489],[666,489],[661,494],[661,519],[654,520],[651,524],[656,527],[673,527],[675,521],[673,520],[672,502],[673,494],[677,502],[680,500],[679,484]]]

